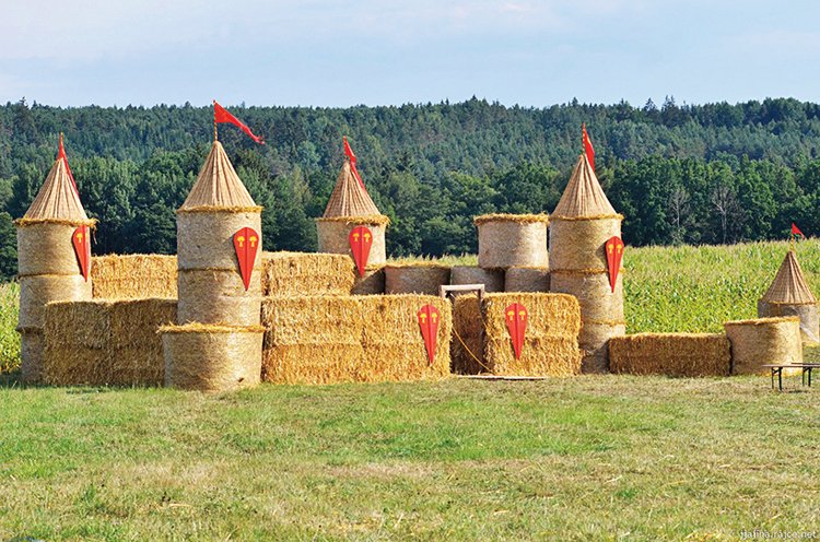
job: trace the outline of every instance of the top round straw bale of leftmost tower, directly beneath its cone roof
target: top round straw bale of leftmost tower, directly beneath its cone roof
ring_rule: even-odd
[[[73,224],[37,222],[17,227],[17,274],[78,274]]]

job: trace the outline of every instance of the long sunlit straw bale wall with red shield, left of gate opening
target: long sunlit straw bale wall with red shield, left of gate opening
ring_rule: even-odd
[[[417,313],[441,314],[434,363]],[[424,295],[268,297],[262,375],[266,381],[332,384],[437,379],[449,374],[449,303]]]

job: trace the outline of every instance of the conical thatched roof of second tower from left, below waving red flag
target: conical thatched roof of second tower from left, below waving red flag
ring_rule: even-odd
[[[255,208],[254,198],[236,175],[234,166],[219,141],[213,142],[199,177],[180,211],[196,208]]]

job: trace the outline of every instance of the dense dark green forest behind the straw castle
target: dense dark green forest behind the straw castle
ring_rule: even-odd
[[[572,102],[547,108],[483,99],[390,107],[230,108],[268,144],[224,125],[220,140],[265,205],[266,249],[315,250],[343,160],[359,156],[391,220],[395,256],[471,252],[472,216],[551,211],[581,152],[624,214],[631,245],[785,238],[820,232],[820,105],[768,98],[659,107]],[[60,131],[83,204],[99,221],[95,254],[176,251],[174,211],[212,138],[210,107],[0,105],[0,278],[16,273],[12,220],[45,179]]]

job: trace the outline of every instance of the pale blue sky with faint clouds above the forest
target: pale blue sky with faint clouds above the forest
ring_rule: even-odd
[[[820,102],[820,2],[0,1],[2,103]]]

